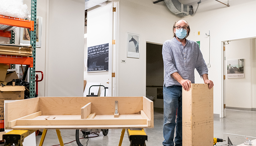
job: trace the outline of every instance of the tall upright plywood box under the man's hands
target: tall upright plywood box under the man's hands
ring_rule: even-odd
[[[182,91],[182,143],[213,145],[213,88],[208,84],[191,84],[189,91]]]

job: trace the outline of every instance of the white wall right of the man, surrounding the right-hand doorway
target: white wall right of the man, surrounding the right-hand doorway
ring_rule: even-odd
[[[220,114],[222,108],[222,41],[251,38],[256,36],[256,28],[244,29],[245,25],[256,24],[254,0],[232,0],[227,7],[216,1],[205,1],[199,5],[198,12],[193,17],[184,18],[190,24],[191,35],[188,39],[200,41],[201,51],[206,63],[209,63],[209,38],[205,33],[211,32],[211,68],[209,79],[214,82],[214,114]],[[200,31],[201,35],[197,34]],[[196,83],[202,82],[196,76]],[[254,97],[255,98],[255,97]],[[256,107],[254,102],[253,107]]]

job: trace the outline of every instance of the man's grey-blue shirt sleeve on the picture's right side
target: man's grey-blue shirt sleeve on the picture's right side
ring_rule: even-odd
[[[208,74],[208,68],[203,59],[203,55],[201,53],[201,50],[199,49],[199,46],[198,46],[198,59],[196,63],[196,70],[200,76],[202,76],[203,74]]]

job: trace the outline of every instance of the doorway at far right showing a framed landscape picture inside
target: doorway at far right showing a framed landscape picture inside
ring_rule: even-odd
[[[255,38],[223,43],[223,108],[255,110],[256,41]]]

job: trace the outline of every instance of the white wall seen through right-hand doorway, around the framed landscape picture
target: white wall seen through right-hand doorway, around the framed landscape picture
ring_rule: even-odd
[[[254,39],[255,40],[255,39]],[[254,45],[254,47],[253,47]],[[253,39],[231,41],[226,45],[226,107],[227,108],[252,108],[252,85],[253,76],[252,73],[253,62],[255,58],[252,56],[252,52],[255,53],[255,43]],[[254,55],[255,57],[255,55]],[[228,78],[227,77],[227,61],[233,59],[244,59],[244,78]],[[255,64],[255,63],[254,63]]]

